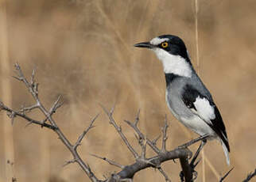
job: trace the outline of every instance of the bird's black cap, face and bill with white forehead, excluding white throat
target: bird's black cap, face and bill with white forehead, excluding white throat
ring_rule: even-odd
[[[135,44],[135,47],[146,47],[146,48],[160,48],[165,51],[168,51],[169,54],[172,55],[180,55],[184,59],[189,60],[188,51],[187,48],[183,42],[183,40],[180,39],[178,36],[173,35],[162,35],[157,36],[153,38],[153,40],[150,40],[149,42],[143,42],[139,44]]]

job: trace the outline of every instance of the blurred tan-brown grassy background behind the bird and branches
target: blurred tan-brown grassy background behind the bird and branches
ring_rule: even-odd
[[[168,149],[196,138],[166,107],[161,63],[153,52],[133,47],[161,34],[177,35],[196,66],[194,0],[13,0],[1,1],[0,6],[0,99],[15,109],[33,104],[25,86],[11,78],[14,63],[20,63],[28,77],[36,68],[47,108],[63,95],[65,104],[54,119],[72,142],[101,113],[79,150],[99,178],[119,169],[90,154],[122,165],[134,162],[99,104],[106,108],[116,104],[114,119],[138,151],[134,131],[123,122],[134,120],[138,109],[139,127],[149,138],[160,135],[167,115]],[[198,181],[204,181],[204,175],[206,181],[218,181],[232,166],[235,169],[226,181],[242,181],[256,164],[256,2],[198,0],[198,7],[196,70],[215,98],[231,143],[228,167],[219,142],[208,142],[204,165],[197,168]],[[43,119],[40,112],[29,116]],[[15,119],[11,127],[5,112],[0,117],[2,182],[12,176],[18,182],[89,181],[78,165],[63,167],[72,156],[52,131],[25,127],[22,119]],[[195,151],[197,145],[190,149]],[[153,151],[147,154],[152,156]],[[165,162],[163,169],[171,180],[179,180],[178,163]],[[165,179],[157,170],[146,169],[134,181]]]

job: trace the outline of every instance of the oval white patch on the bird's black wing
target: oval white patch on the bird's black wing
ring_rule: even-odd
[[[211,106],[207,98],[197,97],[193,104],[195,105],[196,112],[200,118],[209,123],[211,123],[211,119],[215,119],[214,106]]]

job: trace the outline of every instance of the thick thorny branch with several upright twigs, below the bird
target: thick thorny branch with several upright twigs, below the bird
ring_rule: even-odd
[[[142,147],[142,155],[138,155],[138,153],[134,150],[134,148],[130,146],[130,143],[128,142],[127,138],[123,135],[122,130],[120,130],[121,127],[118,127],[118,124],[115,122],[113,118],[113,112],[114,112],[113,108],[111,109],[111,112],[108,112],[107,109],[104,107],[103,107],[103,110],[106,112],[107,116],[109,117],[110,123],[114,126],[116,131],[118,131],[118,134],[121,136],[122,140],[126,143],[126,146],[129,148],[131,153],[134,154],[134,158],[135,158],[134,164],[126,165],[125,169],[123,169],[122,171],[116,174],[118,177],[121,176],[122,178],[124,177],[133,178],[134,174],[137,173],[138,171],[148,167],[153,167],[158,169],[161,172],[161,174],[165,177],[165,180],[170,181],[169,177],[166,175],[164,170],[161,169],[161,164],[164,161],[169,161],[176,158],[182,158],[182,161],[180,161],[180,163],[184,171],[190,170],[190,167],[188,166],[189,165],[188,157],[192,155],[190,150],[184,148],[184,149],[167,151],[165,149],[165,142],[167,140],[166,130],[168,127],[166,119],[165,119],[165,126],[163,127],[163,130],[162,130],[163,132],[162,150],[158,149],[156,144],[150,141],[149,138],[145,138],[142,132],[138,129],[139,112],[134,123],[131,123],[130,121],[125,120],[125,122],[128,123],[128,125],[130,125],[130,127],[132,127],[134,131],[136,131],[136,133],[138,134],[138,142]],[[157,153],[156,156],[149,157],[149,158],[145,157],[146,143]],[[188,169],[184,169],[184,166],[188,167]],[[184,174],[185,174],[184,175],[185,181],[192,181],[192,173],[191,174],[184,173]],[[112,176],[112,177],[115,177],[115,176]]]

